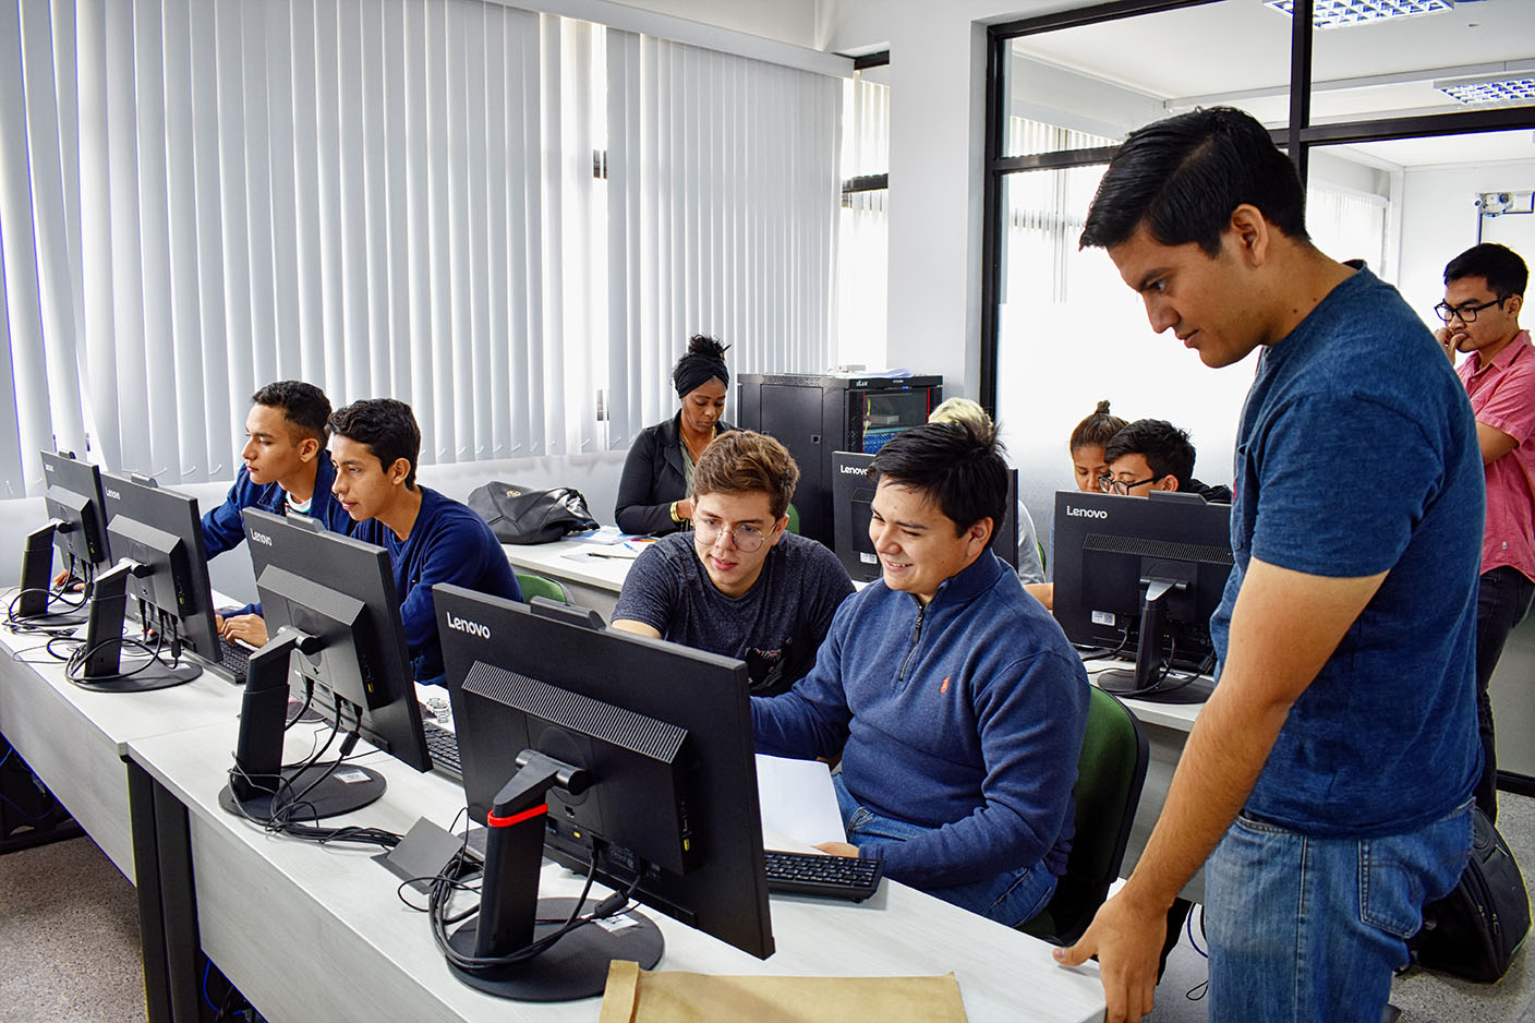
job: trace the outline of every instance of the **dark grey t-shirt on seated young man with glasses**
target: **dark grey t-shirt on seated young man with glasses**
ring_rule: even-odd
[[[746,662],[752,693],[786,691],[815,665],[832,616],[853,591],[837,555],[784,533],[752,588],[729,598],[714,588],[694,535],[672,533],[629,568],[614,619],[643,622],[662,639]]]

